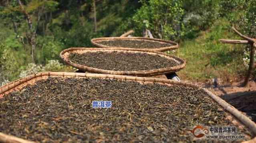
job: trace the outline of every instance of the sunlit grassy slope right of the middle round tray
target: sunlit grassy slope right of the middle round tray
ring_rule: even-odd
[[[176,56],[186,60],[184,70],[177,74],[181,79],[206,82],[212,78],[220,78],[231,82],[245,76],[243,64],[244,45],[222,44],[221,38],[240,39],[231,30],[226,19],[219,19],[207,31],[200,32],[198,38],[184,40],[175,52]]]

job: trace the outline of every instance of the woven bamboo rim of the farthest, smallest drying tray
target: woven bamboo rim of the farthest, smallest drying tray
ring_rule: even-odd
[[[157,38],[146,38],[146,37],[103,37],[103,38],[93,38],[91,39],[91,43],[94,44],[95,46],[98,46],[100,48],[125,48],[125,47],[117,47],[117,46],[107,46],[107,45],[102,45],[97,42],[100,41],[109,41],[109,40],[146,40],[146,41],[153,41],[153,42],[159,42],[159,43],[168,43],[172,44],[173,46],[168,46],[168,47],[161,47],[161,48],[133,48],[136,50],[147,50],[147,51],[159,51],[159,52],[165,52],[169,50],[174,50],[176,48],[179,48],[179,44],[173,41],[167,41],[167,40],[162,40],[162,39],[157,39]]]

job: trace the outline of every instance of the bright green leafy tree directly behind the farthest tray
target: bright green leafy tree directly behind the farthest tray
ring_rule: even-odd
[[[176,40],[184,35],[182,1],[141,0],[140,2],[142,6],[131,22],[137,34],[142,33],[144,29],[149,29],[154,37],[167,40]]]

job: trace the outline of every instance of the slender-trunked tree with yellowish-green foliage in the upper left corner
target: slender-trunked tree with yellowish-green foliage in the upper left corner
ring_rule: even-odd
[[[26,32],[27,41],[31,46],[33,63],[35,62],[36,34],[40,19],[44,13],[54,10],[57,5],[58,2],[52,0],[11,0],[0,12],[1,17],[8,18],[7,20],[13,23],[17,36],[19,35],[17,23],[22,22],[23,19],[27,20],[28,28],[22,28],[22,32]]]

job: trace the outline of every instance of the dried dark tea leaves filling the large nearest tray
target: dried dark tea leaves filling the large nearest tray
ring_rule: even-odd
[[[204,91],[181,85],[49,77],[0,99],[0,131],[40,142],[191,142],[193,126],[233,126],[219,108]]]

